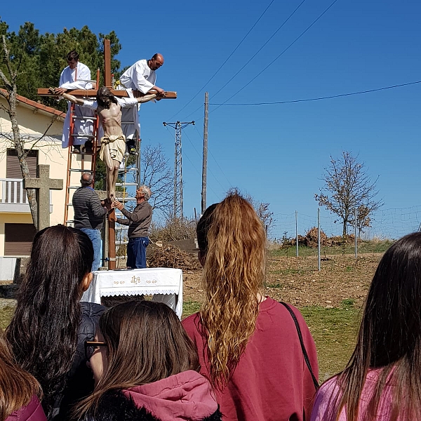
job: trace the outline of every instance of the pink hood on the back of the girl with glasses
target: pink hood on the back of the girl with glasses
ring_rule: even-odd
[[[218,409],[210,383],[193,370],[123,392],[159,420],[199,421]]]

